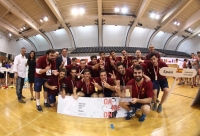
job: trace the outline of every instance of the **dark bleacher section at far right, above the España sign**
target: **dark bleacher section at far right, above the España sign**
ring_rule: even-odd
[[[155,49],[165,55],[173,55],[173,56],[182,56],[182,57],[190,57],[189,54],[180,51],[172,51],[172,50],[162,50],[162,49]]]

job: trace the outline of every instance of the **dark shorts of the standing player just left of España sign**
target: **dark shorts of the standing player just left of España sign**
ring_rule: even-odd
[[[164,88],[169,88],[167,78],[153,81],[153,90],[159,90],[160,88],[162,91]]]

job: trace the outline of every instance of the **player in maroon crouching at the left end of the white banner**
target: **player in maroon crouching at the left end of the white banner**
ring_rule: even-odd
[[[66,70],[60,68],[58,76],[51,76],[44,86],[48,88],[48,101],[51,107],[55,107],[56,96],[61,94],[62,98],[65,98],[65,89],[66,89],[66,79],[65,79]]]

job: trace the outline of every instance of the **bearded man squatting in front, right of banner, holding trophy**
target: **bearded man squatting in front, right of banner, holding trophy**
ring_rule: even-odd
[[[139,108],[142,111],[142,116],[139,121],[143,122],[146,115],[150,112],[150,103],[153,97],[153,85],[151,81],[146,81],[142,66],[136,65],[133,72],[134,79],[129,80],[127,86],[132,88],[132,98],[129,102],[119,102],[119,105],[126,109],[126,120],[130,120],[135,115],[136,109]],[[123,98],[125,94],[120,91],[120,87],[116,87],[118,95]],[[131,91],[130,91],[131,92]],[[132,108],[132,109],[131,109]]]

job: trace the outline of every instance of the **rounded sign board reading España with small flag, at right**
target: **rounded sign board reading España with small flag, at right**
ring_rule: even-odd
[[[197,71],[195,69],[163,67],[159,70],[159,73],[163,76],[192,78],[197,74]]]

